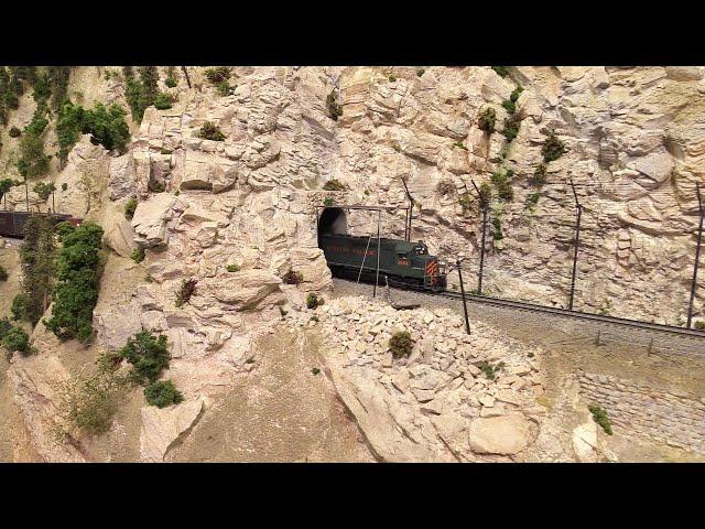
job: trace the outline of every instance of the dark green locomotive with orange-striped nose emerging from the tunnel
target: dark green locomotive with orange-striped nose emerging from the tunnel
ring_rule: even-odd
[[[334,277],[367,281],[377,278],[377,238],[345,234],[321,235],[319,245]],[[446,288],[445,267],[436,256],[429,255],[422,241],[409,242],[399,239],[379,240],[379,278],[384,284],[443,291]]]

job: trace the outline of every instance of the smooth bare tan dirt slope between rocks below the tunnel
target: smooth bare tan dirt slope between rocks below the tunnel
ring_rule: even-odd
[[[178,462],[372,462],[317,360],[314,333],[276,328],[254,347],[254,369],[220,397],[185,442]]]

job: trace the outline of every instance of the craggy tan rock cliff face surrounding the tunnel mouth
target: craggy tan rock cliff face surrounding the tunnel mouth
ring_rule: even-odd
[[[84,105],[126,106],[123,82],[104,77],[106,69],[119,72],[74,68],[69,96]],[[490,218],[500,219],[503,238],[488,236],[486,291],[566,304],[572,179],[583,205],[575,307],[611,306],[616,315],[677,323],[694,258],[694,186],[703,181],[703,73],[516,67],[502,78],[489,67],[236,67],[227,96],[208,84],[204,68],[189,68],[191,89],[183,77],[173,88],[160,82],[177,101],[169,110],[147,110],[127,154],[116,158],[85,137],[66,168],[53,166],[50,176],[58,188],[68,184],[56,194],[57,209],[100,223],[117,256],[147,248],[127,290],[115,288],[120,274],[109,290],[104,285],[95,312],[98,344],[116,349],[142,327],[164,332],[173,344],[172,378],[195,399],[247,373],[251,341],[280,309],[330,288],[314,205],[333,197],[405,206],[403,177],[417,203],[412,239],[447,260],[465,255],[473,273],[481,216],[471,181],[489,182],[500,168],[513,171],[514,197],[492,203]],[[521,122],[509,142],[501,104],[519,85]],[[343,109],[337,120],[326,109],[332,91]],[[9,174],[17,140],[7,131],[29,122],[31,105],[25,95],[1,132],[0,162]],[[478,128],[487,107],[497,114],[491,134]],[[225,141],[198,137],[206,121]],[[527,207],[550,131],[566,152],[547,164],[546,185],[535,207]],[[47,144],[53,133],[50,127]],[[330,179],[348,191],[321,191]],[[139,205],[127,220],[122,210],[131,196]],[[8,207],[23,209],[24,199],[17,187]],[[41,201],[30,193],[30,203]],[[348,214],[347,222],[356,234],[376,230],[362,213]],[[403,213],[387,215],[382,230],[401,237]],[[228,264],[240,270],[228,272]],[[297,288],[282,283],[289,270],[303,273]],[[198,282],[196,294],[176,307],[175,292],[188,278]],[[701,303],[702,296],[696,314]],[[21,374],[20,387],[32,387],[31,370]]]

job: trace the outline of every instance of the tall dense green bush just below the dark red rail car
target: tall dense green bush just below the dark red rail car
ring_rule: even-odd
[[[100,288],[100,249],[102,228],[84,223],[63,238],[56,263],[58,284],[55,289],[52,317],[46,328],[61,341],[93,338],[93,310]]]

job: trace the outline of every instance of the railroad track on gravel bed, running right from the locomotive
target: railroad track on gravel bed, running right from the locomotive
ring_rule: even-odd
[[[345,281],[352,285],[356,284],[355,281],[346,279],[336,278],[336,281]],[[434,293],[422,290],[421,288],[409,289],[408,285],[403,285],[404,288],[400,289],[399,287],[401,287],[401,284],[390,282],[390,288],[393,289],[395,294],[403,293],[402,295],[406,296],[409,296],[409,294],[431,296],[436,300],[448,299],[457,303],[462,303],[463,301],[459,292],[445,291]],[[382,290],[383,288],[384,287],[381,287]],[[650,353],[654,350],[665,350],[705,357],[705,332],[702,331],[484,295],[465,294],[465,299],[469,304],[510,311],[513,314],[523,313],[531,316],[531,319],[541,315],[546,319],[558,317],[570,321],[579,327],[577,330],[578,332],[584,333],[582,336],[577,336],[579,339],[594,338],[598,344],[611,342],[631,346],[636,345],[646,347]]]

